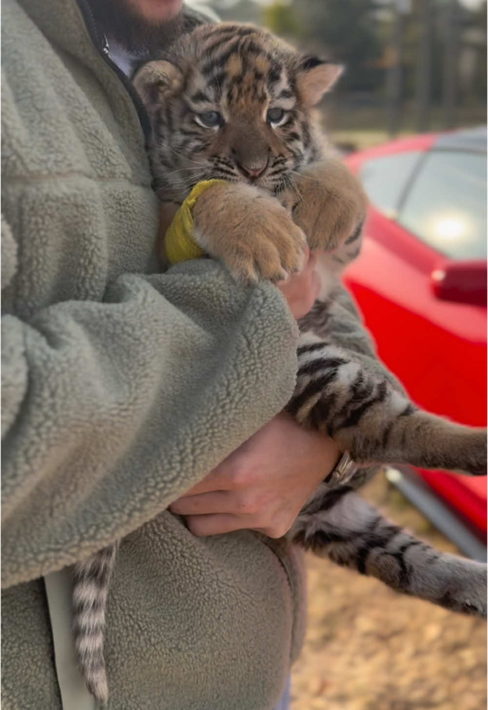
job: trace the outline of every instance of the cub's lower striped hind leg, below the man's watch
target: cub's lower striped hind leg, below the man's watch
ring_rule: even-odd
[[[318,506],[313,500],[299,514],[289,540],[403,594],[487,616],[485,564],[435,550],[392,524],[348,486],[321,488],[314,496]]]

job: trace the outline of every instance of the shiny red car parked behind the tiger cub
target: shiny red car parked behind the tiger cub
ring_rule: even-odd
[[[418,405],[485,426],[486,129],[414,136],[345,160],[370,210],[362,253],[344,280],[379,357]],[[464,552],[486,558],[486,478],[418,469],[390,476]]]

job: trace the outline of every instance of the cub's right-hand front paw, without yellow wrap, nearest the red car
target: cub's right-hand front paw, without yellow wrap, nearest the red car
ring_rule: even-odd
[[[333,252],[343,263],[357,256],[367,197],[338,158],[312,163],[294,179],[293,219],[311,249]]]

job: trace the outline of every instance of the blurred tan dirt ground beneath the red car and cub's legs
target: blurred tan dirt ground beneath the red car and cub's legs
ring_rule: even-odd
[[[442,550],[455,547],[379,474],[363,495]],[[292,710],[485,710],[486,623],[308,558],[309,623]]]

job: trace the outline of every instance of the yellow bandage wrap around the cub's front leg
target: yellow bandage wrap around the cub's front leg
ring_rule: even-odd
[[[196,244],[193,237],[194,219],[192,209],[202,192],[211,185],[225,180],[202,180],[197,182],[192,192],[184,200],[173,217],[173,221],[165,234],[165,251],[170,263],[177,264],[188,259],[198,259],[204,256],[204,250]]]

